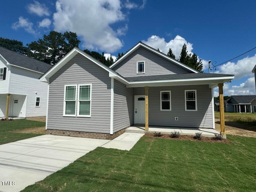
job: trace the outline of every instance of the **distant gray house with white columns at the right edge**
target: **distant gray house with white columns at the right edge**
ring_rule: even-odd
[[[227,102],[232,105],[227,112],[256,113],[256,95],[233,95]]]

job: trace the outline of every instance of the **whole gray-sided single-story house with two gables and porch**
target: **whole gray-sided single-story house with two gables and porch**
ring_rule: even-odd
[[[213,88],[233,78],[200,73],[142,42],[110,67],[74,48],[40,78],[49,84],[47,134],[112,139],[134,124],[214,128]]]

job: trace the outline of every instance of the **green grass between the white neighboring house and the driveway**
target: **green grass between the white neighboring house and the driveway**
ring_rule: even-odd
[[[45,126],[45,122],[31,121],[31,120],[13,120],[13,121],[0,121],[0,144],[14,142],[22,139],[27,139],[42,134],[27,134],[27,133],[14,133],[13,130],[20,130],[33,127]]]

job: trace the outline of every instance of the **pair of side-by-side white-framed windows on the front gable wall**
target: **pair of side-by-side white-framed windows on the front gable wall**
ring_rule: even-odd
[[[65,85],[63,116],[90,117],[91,87],[91,84]]]

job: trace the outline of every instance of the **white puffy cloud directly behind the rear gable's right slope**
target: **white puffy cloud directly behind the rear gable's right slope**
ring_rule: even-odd
[[[156,35],[152,35],[150,38],[148,38],[147,40],[143,40],[142,42],[152,48],[155,48],[155,49],[159,48],[159,50],[164,54],[167,54],[169,51],[169,48],[171,48],[176,59],[180,58],[180,52],[184,44],[187,45],[188,53],[192,53],[192,50],[193,50],[193,47],[192,47],[193,44],[190,42],[187,42],[183,37],[179,35],[177,35],[174,39],[170,40],[169,42],[166,42],[164,38],[160,38],[159,36],[156,36]]]

